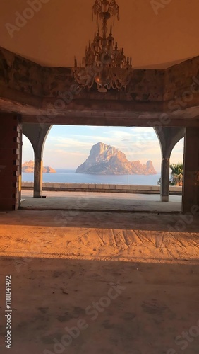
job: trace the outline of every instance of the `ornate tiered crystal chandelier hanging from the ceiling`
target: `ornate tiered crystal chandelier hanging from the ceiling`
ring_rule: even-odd
[[[95,0],[92,18],[93,15],[97,16],[98,30],[93,42],[89,42],[85,48],[85,56],[79,67],[75,57],[73,77],[80,87],[91,89],[96,83],[99,92],[126,88],[133,77],[132,59],[126,58],[123,48],[118,48],[112,35],[112,25],[107,35],[109,19],[116,17],[119,20],[119,6],[115,0]],[[99,21],[102,21],[102,33]]]

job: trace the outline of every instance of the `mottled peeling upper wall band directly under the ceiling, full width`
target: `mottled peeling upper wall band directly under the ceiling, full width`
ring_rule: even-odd
[[[175,97],[181,98],[185,91],[190,91],[193,76],[198,78],[199,83],[198,68],[199,57],[195,57],[166,70],[137,69],[126,92],[110,90],[104,94],[93,87],[90,91],[83,89],[80,95],[73,96],[73,99],[143,103],[169,101]],[[71,68],[40,67],[0,47],[0,93],[5,87],[41,99],[57,98],[59,92],[70,91],[73,83]],[[199,94],[195,94],[193,105],[198,102]]]

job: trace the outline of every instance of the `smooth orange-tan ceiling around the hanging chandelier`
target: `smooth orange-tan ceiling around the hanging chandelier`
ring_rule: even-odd
[[[29,3],[38,0],[1,0],[0,46],[47,66],[73,66],[83,57],[85,45],[93,37],[94,0],[40,0],[40,11],[13,31],[16,12],[23,14]],[[157,6],[155,13],[153,4]],[[167,68],[199,55],[198,0],[117,0],[121,20],[114,37],[125,54],[133,57],[135,68]],[[165,4],[165,5],[163,5]],[[154,5],[155,6],[155,5]],[[30,13],[29,13],[30,14]]]

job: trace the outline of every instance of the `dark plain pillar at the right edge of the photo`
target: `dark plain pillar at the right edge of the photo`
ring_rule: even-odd
[[[183,171],[183,212],[199,210],[199,128],[186,128]],[[194,209],[195,210],[195,209]]]

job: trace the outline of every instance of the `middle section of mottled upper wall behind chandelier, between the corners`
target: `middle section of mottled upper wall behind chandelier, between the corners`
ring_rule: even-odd
[[[43,96],[57,97],[70,89],[74,83],[70,68],[43,68]],[[87,98],[93,100],[124,100],[124,101],[162,101],[164,96],[164,70],[140,69],[135,70],[133,81],[128,90],[111,89],[107,93],[97,92],[96,87],[83,90],[75,99]]]

